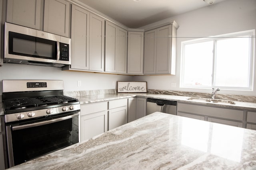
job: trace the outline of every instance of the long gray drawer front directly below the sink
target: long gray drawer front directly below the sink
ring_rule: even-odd
[[[242,110],[224,109],[218,107],[178,103],[177,109],[181,112],[195,113],[198,115],[206,115],[211,117],[220,117],[224,119],[233,119],[238,121],[242,121],[244,117],[244,111]]]

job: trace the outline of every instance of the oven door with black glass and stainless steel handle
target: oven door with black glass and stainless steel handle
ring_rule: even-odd
[[[79,114],[75,111],[40,121],[6,125],[9,166],[78,143]]]

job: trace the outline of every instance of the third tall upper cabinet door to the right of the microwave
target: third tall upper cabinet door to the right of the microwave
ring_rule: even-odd
[[[106,49],[105,49],[105,71],[116,72],[117,54],[117,27],[113,23],[106,22]]]

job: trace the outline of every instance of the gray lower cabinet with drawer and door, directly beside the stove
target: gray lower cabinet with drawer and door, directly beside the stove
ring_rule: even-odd
[[[107,102],[81,105],[80,139],[85,141],[108,129]]]

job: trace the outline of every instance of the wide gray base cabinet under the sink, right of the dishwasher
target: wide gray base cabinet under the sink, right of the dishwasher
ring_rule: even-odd
[[[178,102],[177,115],[236,127],[243,125],[244,111]]]

